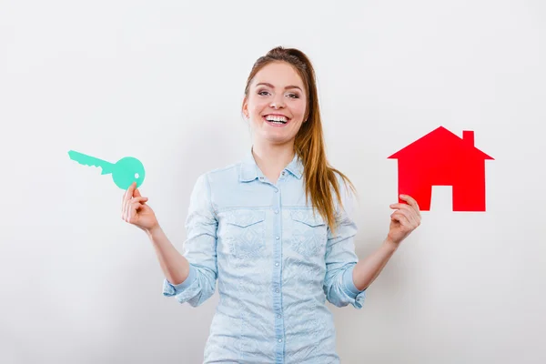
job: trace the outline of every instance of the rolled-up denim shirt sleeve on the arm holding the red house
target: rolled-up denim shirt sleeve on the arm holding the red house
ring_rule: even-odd
[[[345,307],[351,304],[354,308],[362,308],[366,289],[356,288],[352,278],[353,268],[359,261],[354,243],[358,228],[349,216],[349,212],[353,209],[353,201],[349,199],[342,181],[340,181],[340,187],[345,208],[337,209],[338,226],[335,232],[329,229],[326,247],[326,277],[323,288],[326,298],[334,306]]]

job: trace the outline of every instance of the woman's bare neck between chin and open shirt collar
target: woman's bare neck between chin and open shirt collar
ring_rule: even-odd
[[[283,145],[252,146],[252,154],[256,164],[269,181],[276,182],[280,172],[288,166],[294,158],[294,143]]]

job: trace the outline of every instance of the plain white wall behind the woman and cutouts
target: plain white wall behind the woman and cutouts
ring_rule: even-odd
[[[359,188],[360,258],[397,200],[390,154],[437,126],[494,157],[487,212],[450,187],[369,288],[334,308],[343,363],[546,362],[546,5],[472,1],[2,1],[0,362],[198,363],[217,294],[161,294],[123,191],[67,151],[138,157],[182,248],[197,176],[250,146],[253,62],[276,45],[319,76],[329,158]]]

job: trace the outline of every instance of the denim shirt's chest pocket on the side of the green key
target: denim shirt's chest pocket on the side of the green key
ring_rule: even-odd
[[[234,210],[225,216],[224,238],[229,253],[237,258],[257,257],[265,247],[264,211]]]

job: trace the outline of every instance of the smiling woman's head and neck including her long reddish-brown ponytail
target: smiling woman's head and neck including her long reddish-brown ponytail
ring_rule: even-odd
[[[252,127],[258,167],[275,181],[295,151],[305,166],[306,196],[334,228],[333,194],[340,202],[339,177],[354,187],[326,158],[315,70],[308,56],[277,47],[258,58],[248,75],[242,108]],[[280,164],[265,166],[259,160],[265,154]]]

